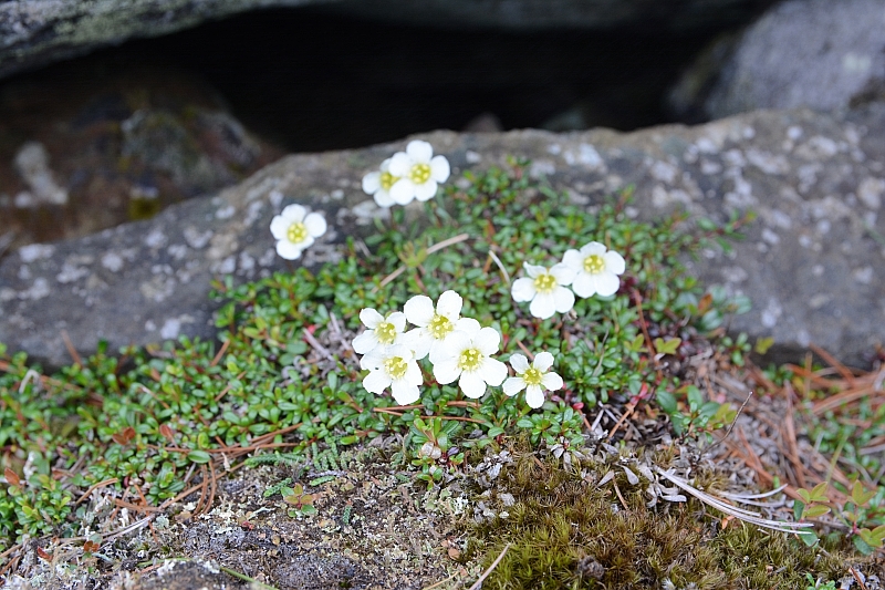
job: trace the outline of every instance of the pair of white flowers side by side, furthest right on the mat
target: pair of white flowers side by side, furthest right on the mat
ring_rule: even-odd
[[[531,301],[531,314],[545,320],[571,311],[575,294],[586,299],[616,293],[621,287],[618,275],[624,273],[626,265],[616,251],[591,241],[580,250],[566,250],[562,262],[550,269],[528,262],[523,268],[528,277],[513,281],[513,300]],[[572,289],[566,289],[570,286]]]

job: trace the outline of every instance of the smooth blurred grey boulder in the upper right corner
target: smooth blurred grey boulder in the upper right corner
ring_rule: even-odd
[[[699,107],[714,120],[871,100],[885,100],[885,1],[788,0],[699,56],[670,102],[681,115]]]

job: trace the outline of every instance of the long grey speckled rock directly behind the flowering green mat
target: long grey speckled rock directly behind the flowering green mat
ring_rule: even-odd
[[[868,364],[885,342],[885,105],[843,114],[756,112],[696,127],[620,134],[539,131],[438,132],[425,136],[467,168],[533,161],[532,174],[592,206],[635,185],[631,211],[645,219],[685,209],[723,221],[758,219],[732,255],[693,262],[707,284],[747,294],[733,331],[773,337],[781,352],[811,343]],[[0,342],[59,365],[106,339],[112,350],[183,334],[211,337],[210,281],[290,268],[269,225],[290,203],[324,213],[330,231],[302,262],[334,259],[335,242],[368,232],[377,209],[362,176],[405,142],[352,152],[293,155],[219,195],[86,238],[19,249],[0,263]],[[455,229],[454,229],[455,231]]]

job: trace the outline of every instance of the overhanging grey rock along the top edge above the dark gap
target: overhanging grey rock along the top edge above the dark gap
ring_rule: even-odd
[[[733,23],[770,0],[7,0],[0,77],[132,38],[157,37],[268,7],[341,4],[346,14],[424,25],[689,29]]]

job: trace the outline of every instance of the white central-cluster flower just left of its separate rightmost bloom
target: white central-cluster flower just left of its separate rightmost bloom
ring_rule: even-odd
[[[445,343],[445,356],[434,364],[434,376],[442,385],[457,379],[465,395],[482,397],[487,383],[498,386],[507,377],[507,365],[490,358],[500,341],[496,329],[480,328],[475,319],[464,318]]]

